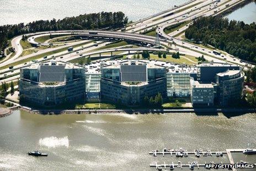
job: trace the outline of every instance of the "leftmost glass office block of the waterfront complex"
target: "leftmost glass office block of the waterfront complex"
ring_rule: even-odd
[[[65,62],[44,62],[20,69],[20,101],[52,106],[85,97],[85,69]]]

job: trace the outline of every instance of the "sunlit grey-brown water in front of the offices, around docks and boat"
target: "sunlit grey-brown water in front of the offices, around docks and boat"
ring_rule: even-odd
[[[155,170],[148,165],[178,160],[228,163],[228,158],[154,158],[148,155],[153,148],[213,151],[245,148],[248,142],[256,147],[255,114],[228,119],[222,114],[36,115],[15,111],[0,118],[0,130],[0,170]],[[26,155],[35,149],[49,156]],[[234,157],[235,162],[256,163],[256,156]]]

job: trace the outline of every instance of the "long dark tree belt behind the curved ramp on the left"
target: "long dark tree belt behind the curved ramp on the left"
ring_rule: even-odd
[[[127,24],[128,18],[122,12],[101,12],[67,17],[62,20],[38,20],[28,24],[0,26],[0,50],[8,46],[8,40],[18,35],[38,31],[115,29]]]

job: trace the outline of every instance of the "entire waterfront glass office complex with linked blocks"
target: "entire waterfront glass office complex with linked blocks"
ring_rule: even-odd
[[[228,106],[241,98],[244,81],[242,68],[227,63],[99,60],[85,67],[46,62],[20,70],[20,98],[42,105],[76,99],[135,105],[161,93],[195,107]]]

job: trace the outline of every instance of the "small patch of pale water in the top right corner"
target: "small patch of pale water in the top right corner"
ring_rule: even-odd
[[[244,21],[247,24],[256,22],[256,2],[251,2],[228,14],[226,17],[229,20]]]

